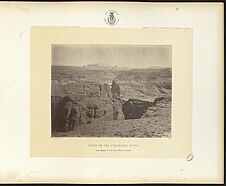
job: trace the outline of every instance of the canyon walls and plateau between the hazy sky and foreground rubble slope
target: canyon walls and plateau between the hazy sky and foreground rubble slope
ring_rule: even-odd
[[[171,70],[113,73],[57,67],[52,73],[52,131],[66,132],[96,121],[151,118],[170,110]]]

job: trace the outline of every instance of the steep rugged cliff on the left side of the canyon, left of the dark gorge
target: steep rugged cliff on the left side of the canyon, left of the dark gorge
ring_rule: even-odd
[[[116,85],[119,93],[119,86]],[[68,131],[92,120],[124,120],[122,101],[107,84],[52,83],[52,130]]]

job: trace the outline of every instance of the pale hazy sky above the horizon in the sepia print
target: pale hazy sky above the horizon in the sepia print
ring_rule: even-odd
[[[52,65],[103,64],[130,68],[171,67],[171,46],[53,45]]]

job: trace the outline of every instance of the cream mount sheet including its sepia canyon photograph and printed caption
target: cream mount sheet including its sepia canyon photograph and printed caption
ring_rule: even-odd
[[[31,71],[32,156],[191,154],[191,29],[34,27]]]

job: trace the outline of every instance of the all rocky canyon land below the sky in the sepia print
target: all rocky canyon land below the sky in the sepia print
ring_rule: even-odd
[[[52,136],[170,137],[171,68],[52,66]]]

